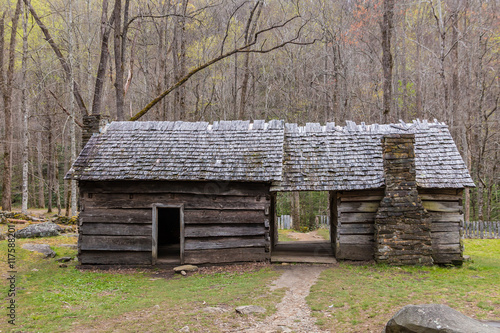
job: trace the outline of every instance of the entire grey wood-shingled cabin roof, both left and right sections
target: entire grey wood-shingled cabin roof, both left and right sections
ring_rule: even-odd
[[[443,123],[335,126],[283,121],[113,122],[89,140],[66,178],[272,183],[273,191],[384,186],[381,139],[415,134],[417,183],[474,186]]]

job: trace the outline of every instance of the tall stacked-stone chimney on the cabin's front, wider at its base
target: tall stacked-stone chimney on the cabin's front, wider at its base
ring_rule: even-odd
[[[415,135],[382,139],[385,196],[375,217],[375,260],[389,265],[432,265],[431,221],[417,191]]]

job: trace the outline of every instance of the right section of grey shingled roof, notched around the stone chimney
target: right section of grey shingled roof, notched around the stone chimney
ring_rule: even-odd
[[[384,186],[382,137],[415,134],[417,184],[463,188],[474,183],[444,123],[285,126],[283,180],[275,191],[364,190]]]

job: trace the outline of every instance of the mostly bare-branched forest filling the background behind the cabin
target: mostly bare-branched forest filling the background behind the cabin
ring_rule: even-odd
[[[339,125],[420,118],[449,125],[471,170],[477,188],[465,194],[466,219],[498,220],[499,6],[1,0],[2,207],[74,212],[75,186],[63,176],[84,115]]]

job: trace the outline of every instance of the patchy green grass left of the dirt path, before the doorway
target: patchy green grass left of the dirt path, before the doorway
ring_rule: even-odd
[[[16,331],[70,332],[78,326],[95,327],[99,332],[175,331],[189,325],[191,331],[216,332],[215,320],[238,319],[234,307],[260,305],[269,315],[284,293],[269,292],[267,286],[279,275],[269,267],[165,279],[154,270],[80,271],[76,262],[60,268],[54,259],[43,259],[20,247],[47,241],[56,258],[76,255],[76,250],[57,246],[70,242],[70,237],[17,240]],[[7,253],[6,241],[0,242],[0,253],[2,257]],[[2,280],[2,294],[6,295],[6,280]],[[215,315],[202,311],[217,305],[232,311]],[[9,329],[2,318],[0,331]]]

